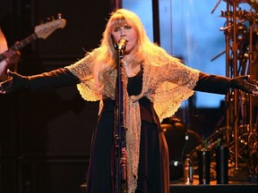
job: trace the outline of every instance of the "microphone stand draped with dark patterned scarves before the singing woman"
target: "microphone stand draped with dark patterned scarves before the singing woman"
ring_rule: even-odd
[[[125,102],[125,67],[124,48],[117,49],[118,65],[115,93],[115,117],[114,117],[114,193],[127,193],[126,174],[126,102]]]

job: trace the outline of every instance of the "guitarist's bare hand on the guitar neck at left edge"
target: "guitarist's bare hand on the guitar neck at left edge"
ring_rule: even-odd
[[[15,65],[20,60],[20,52],[9,50],[4,54],[4,61],[0,63],[0,81],[4,81],[8,79],[7,69]]]

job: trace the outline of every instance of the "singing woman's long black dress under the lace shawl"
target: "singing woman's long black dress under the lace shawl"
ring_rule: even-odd
[[[128,79],[129,96],[142,91],[142,71]],[[159,118],[146,97],[139,100],[142,128],[136,192],[165,193],[169,186],[168,147]],[[87,180],[88,193],[111,193],[111,159],[115,102],[104,100],[96,130],[93,132]]]

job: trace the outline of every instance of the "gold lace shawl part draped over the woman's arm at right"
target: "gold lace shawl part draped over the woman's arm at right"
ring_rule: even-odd
[[[187,67],[172,57],[168,57],[168,64],[145,66],[143,89],[154,103],[161,122],[176,113],[181,103],[193,95],[200,71]]]

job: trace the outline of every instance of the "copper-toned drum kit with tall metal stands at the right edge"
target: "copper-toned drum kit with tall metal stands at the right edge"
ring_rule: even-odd
[[[216,4],[215,8],[218,6]],[[224,32],[226,42],[226,75],[235,78],[250,75],[250,81],[258,82],[258,0],[224,0],[227,10],[221,11],[220,17],[226,19],[225,26],[220,28]],[[248,4],[250,10],[242,5]],[[214,11],[213,9],[213,11]],[[212,13],[212,12],[211,12]],[[258,180],[258,100],[257,97],[232,89],[226,97],[226,126],[216,130],[205,139],[205,146],[211,152],[218,143],[223,141],[228,147],[228,164],[234,172],[232,176],[243,170],[248,178]],[[165,135],[168,134],[168,124],[161,124]],[[181,125],[182,128],[182,125]],[[173,129],[173,128],[172,128]],[[174,127],[175,130],[175,127]],[[185,130],[185,128],[184,128]],[[185,131],[184,131],[185,132]],[[219,141],[219,142],[218,142]],[[191,149],[193,161],[197,159],[197,152],[204,147],[204,141]],[[191,143],[189,143],[191,144]],[[168,141],[169,147],[169,141]],[[182,147],[183,148],[183,147]],[[169,151],[170,154],[170,151]],[[182,155],[181,160],[182,160]],[[211,160],[214,160],[211,154]],[[176,157],[177,159],[180,157]],[[173,168],[173,160],[170,162]],[[212,168],[212,166],[211,166]],[[175,171],[174,171],[175,172]],[[171,177],[172,174],[170,174]]]

